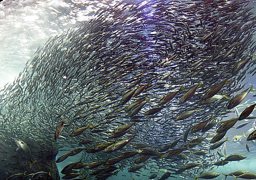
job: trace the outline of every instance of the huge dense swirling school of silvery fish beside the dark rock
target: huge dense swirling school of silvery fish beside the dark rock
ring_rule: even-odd
[[[81,161],[62,169],[63,179],[102,180],[124,168],[146,168],[150,179],[159,169],[168,171],[161,180],[218,177],[204,169],[246,158],[217,161],[216,150],[255,107],[221,121],[253,91],[236,93],[245,73],[256,73],[256,18],[248,3],[134,0],[101,9],[49,39],[6,85],[1,128],[60,151],[73,148],[57,163],[82,152]]]

